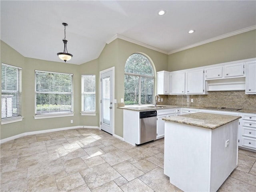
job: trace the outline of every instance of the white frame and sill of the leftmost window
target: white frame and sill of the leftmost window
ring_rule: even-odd
[[[17,80],[16,80],[16,90],[15,91],[2,90],[2,76],[1,76],[1,103],[2,103],[2,93],[18,94],[19,113],[18,113],[18,115],[15,115],[15,116],[2,118],[2,112],[1,112],[1,124],[8,124],[8,123],[22,121],[22,119],[24,118],[24,117],[22,117],[22,68],[18,67],[18,66],[13,66],[10,64],[1,63],[1,72],[2,72],[2,66],[15,68],[17,70],[17,74],[16,74]],[[2,104],[1,104],[1,110],[2,110]]]

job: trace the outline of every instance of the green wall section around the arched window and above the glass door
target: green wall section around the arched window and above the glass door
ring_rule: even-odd
[[[156,71],[167,70],[168,56],[166,54],[121,39],[116,39],[107,44],[98,58],[99,72],[115,67],[114,99],[117,100],[117,103],[120,103],[121,98],[124,98],[124,66],[126,60],[130,55],[138,52],[145,54],[152,60]],[[117,104],[115,104],[114,121],[114,134],[123,137],[123,110],[117,108]]]

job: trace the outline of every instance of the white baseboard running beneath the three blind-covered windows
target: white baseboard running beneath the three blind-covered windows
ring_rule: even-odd
[[[57,129],[47,129],[47,130],[41,130],[41,131],[32,131],[32,132],[25,132],[18,135],[14,135],[8,138],[4,138],[0,140],[0,144],[14,140],[20,137],[28,136],[28,135],[34,135],[34,134],[41,134],[41,133],[48,133],[48,132],[55,132],[55,131],[63,131],[63,130],[69,130],[69,129],[78,129],[78,128],[90,128],[90,129],[100,129],[98,126],[73,126],[73,127],[64,127],[64,128],[57,128]]]

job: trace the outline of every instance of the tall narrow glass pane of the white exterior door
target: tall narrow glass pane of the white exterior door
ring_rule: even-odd
[[[110,125],[110,76],[102,81],[103,123]]]

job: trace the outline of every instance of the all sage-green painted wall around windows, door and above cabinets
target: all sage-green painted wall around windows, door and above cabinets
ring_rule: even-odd
[[[98,59],[81,65],[25,58],[1,41],[1,63],[22,67],[22,116],[21,122],[0,127],[0,138],[8,138],[24,132],[64,128],[70,126],[100,126],[100,71],[115,67],[114,99],[124,98],[124,66],[134,53],[148,56],[157,71],[182,70],[222,62],[256,57],[256,30],[231,36],[215,42],[166,55],[137,44],[116,39],[106,44]],[[34,70],[74,74],[74,116],[34,119]],[[81,116],[81,74],[96,74],[96,116]],[[155,74],[156,75],[156,74]],[[156,90],[156,87],[155,87]],[[115,104],[114,134],[123,137],[123,110]],[[73,120],[73,124],[70,123]]]

